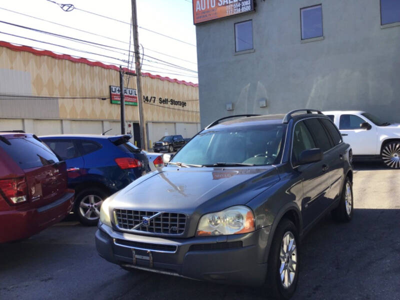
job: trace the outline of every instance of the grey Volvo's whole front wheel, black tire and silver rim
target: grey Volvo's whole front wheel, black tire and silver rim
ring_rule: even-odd
[[[299,267],[299,238],[296,226],[282,219],[272,238],[268,256],[266,286],[268,296],[289,299],[296,290]]]

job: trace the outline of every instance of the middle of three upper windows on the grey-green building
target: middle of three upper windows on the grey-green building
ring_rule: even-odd
[[[301,39],[322,36],[322,5],[300,9]]]

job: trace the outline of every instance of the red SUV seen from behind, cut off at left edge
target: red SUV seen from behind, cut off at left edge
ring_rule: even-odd
[[[0,242],[58,222],[72,203],[65,162],[34,134],[0,132]]]

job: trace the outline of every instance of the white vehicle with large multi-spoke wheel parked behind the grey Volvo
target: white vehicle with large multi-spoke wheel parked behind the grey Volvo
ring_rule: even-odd
[[[400,124],[390,124],[358,110],[323,111],[349,143],[355,159],[382,159],[391,168],[400,168]]]

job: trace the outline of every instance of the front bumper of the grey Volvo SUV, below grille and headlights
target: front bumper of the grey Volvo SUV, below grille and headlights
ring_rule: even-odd
[[[100,256],[125,267],[221,283],[260,285],[265,280],[270,227],[244,234],[190,238],[123,233],[101,223],[98,227],[95,242]],[[148,254],[137,255],[143,249]]]

